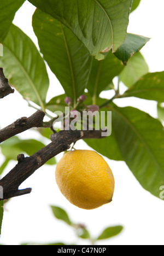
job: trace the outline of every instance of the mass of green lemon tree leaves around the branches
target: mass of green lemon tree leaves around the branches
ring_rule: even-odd
[[[32,26],[38,38],[40,52],[32,40],[14,26],[12,21],[23,0],[6,0],[0,5],[0,43],[4,56],[0,67],[5,76],[24,99],[44,111],[63,110],[66,96],[74,106],[80,95],[86,92],[86,104],[97,104],[100,110],[112,110],[112,135],[104,139],[86,139],[85,142],[109,159],[125,161],[138,182],[151,194],[159,197],[164,184],[164,72],[149,73],[149,67],[140,49],[149,38],[128,34],[129,15],[138,0],[29,0],[37,7]],[[49,77],[46,65],[56,75],[65,95],[54,95],[46,102]],[[114,78],[124,83],[126,91],[120,95],[120,86]],[[102,99],[102,91],[113,90],[115,96]],[[108,94],[107,94],[108,95]],[[114,98],[137,97],[156,101],[159,118],[133,107],[120,108]],[[35,106],[36,106],[35,105]],[[39,130],[40,132],[40,130]],[[51,132],[41,132],[45,137]],[[30,145],[30,147],[29,147]],[[38,141],[21,141],[11,138],[1,144],[4,171],[17,153],[31,155],[42,148]],[[11,150],[9,150],[9,148]],[[55,164],[55,160],[48,164]],[[0,219],[3,211],[0,206]],[[55,215],[61,211],[53,208]],[[66,214],[61,213],[67,224]],[[57,215],[58,216],[58,215]],[[0,222],[1,224],[1,222]],[[118,229],[118,232],[121,229]],[[98,239],[106,238],[115,230],[106,230]],[[86,232],[86,231],[85,231]]]

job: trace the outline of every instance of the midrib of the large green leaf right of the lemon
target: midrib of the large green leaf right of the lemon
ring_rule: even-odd
[[[147,142],[145,141],[145,139],[143,138],[143,136],[139,133],[139,131],[136,129],[136,127],[130,122],[130,120],[128,120],[125,115],[123,115],[122,113],[120,113],[118,110],[116,110],[114,107],[111,106],[111,108],[120,115],[120,117],[122,119],[124,119],[126,121],[126,123],[132,128],[132,130],[136,133],[137,137],[140,139],[140,141],[143,143],[145,149],[147,149],[149,155],[150,155],[150,158],[153,159],[153,161],[155,162],[155,165],[157,166],[157,168],[160,170],[163,178],[164,178],[164,173],[163,173],[163,170],[159,164],[159,162],[156,160],[152,150],[149,148]]]

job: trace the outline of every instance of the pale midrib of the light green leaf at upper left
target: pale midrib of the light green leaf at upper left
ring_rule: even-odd
[[[25,74],[25,76],[27,77],[28,82],[31,85],[31,88],[33,89],[33,91],[35,92],[38,101],[40,103],[40,107],[42,107],[42,110],[45,111],[45,107],[44,107],[44,103],[42,101],[42,99],[40,98],[39,92],[36,89],[36,86],[34,85],[32,79],[30,78],[30,75],[27,73],[26,69],[24,68],[24,66],[21,65],[21,62],[19,61],[19,59],[17,59],[17,57],[15,56],[15,54],[13,53],[13,51],[11,51],[11,49],[3,42],[3,45],[7,48],[7,50],[11,53],[11,55],[13,55],[14,59],[16,60],[16,62],[19,64],[19,67],[21,68],[22,72]]]

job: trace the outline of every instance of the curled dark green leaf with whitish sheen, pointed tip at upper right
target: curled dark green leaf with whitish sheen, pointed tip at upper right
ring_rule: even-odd
[[[137,34],[127,33],[124,43],[116,50],[114,55],[121,60],[124,65],[127,65],[128,60],[143,46],[149,42],[150,38],[138,36]]]

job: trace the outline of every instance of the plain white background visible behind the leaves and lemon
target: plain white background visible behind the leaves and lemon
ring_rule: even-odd
[[[19,26],[37,45],[37,38],[34,36],[31,26],[34,10],[33,5],[26,1],[16,13],[14,24]],[[128,32],[151,38],[150,42],[142,49],[150,72],[164,69],[163,10],[163,0],[141,0],[138,9],[130,16]],[[49,69],[48,72],[51,82],[48,94],[48,100],[50,100],[52,96],[62,94],[63,89]],[[110,98],[110,93],[108,98]],[[156,102],[135,98],[115,102],[120,107],[133,106],[148,112],[153,117],[157,116]],[[1,127],[35,112],[34,109],[28,108],[27,103],[17,92],[2,99],[0,109]],[[38,134],[33,131],[27,131],[20,137],[39,138]],[[81,141],[76,144],[76,148],[90,149]],[[61,156],[62,154],[58,155],[57,160]],[[62,241],[68,245],[72,243],[89,244],[87,241],[77,240],[69,226],[53,217],[50,205],[56,205],[65,208],[73,222],[84,223],[93,237],[98,236],[107,226],[124,226],[124,231],[120,235],[107,241],[101,241],[97,243],[98,245],[164,245],[163,201],[140,186],[125,162],[106,160],[115,177],[115,193],[112,203],[91,211],[71,205],[57,188],[55,166],[43,166],[21,185],[21,188],[32,187],[32,193],[12,199],[5,205],[0,243],[19,245],[22,242]],[[0,155],[0,163],[2,161],[3,157]],[[14,166],[15,162],[13,161],[5,173]]]

